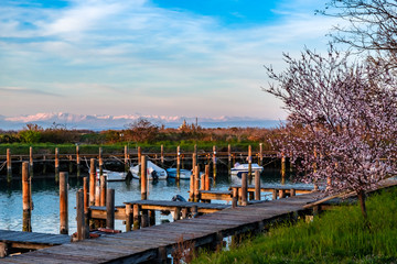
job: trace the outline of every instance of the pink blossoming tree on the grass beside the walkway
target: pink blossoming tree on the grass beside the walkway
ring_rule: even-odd
[[[305,50],[285,61],[280,74],[266,67],[275,82],[265,89],[290,113],[282,151],[299,161],[307,183],[329,194],[355,191],[366,218],[365,191],[396,169],[396,78],[383,65],[350,63],[332,46],[325,57]]]

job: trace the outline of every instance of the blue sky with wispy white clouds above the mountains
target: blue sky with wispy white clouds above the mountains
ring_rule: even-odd
[[[285,119],[264,65],[325,51],[318,0],[1,0],[0,116]]]

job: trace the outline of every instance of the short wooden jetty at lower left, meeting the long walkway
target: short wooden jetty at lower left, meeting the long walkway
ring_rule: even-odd
[[[0,257],[12,253],[14,250],[41,250],[67,243],[71,243],[71,237],[66,234],[0,230]]]

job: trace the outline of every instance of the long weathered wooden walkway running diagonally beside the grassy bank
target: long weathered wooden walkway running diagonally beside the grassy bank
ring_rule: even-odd
[[[139,263],[164,261],[179,242],[195,246],[221,243],[223,238],[260,231],[273,221],[297,217],[316,194],[260,201],[235,209],[143,228],[132,232],[84,240],[22,255],[0,258],[0,263]]]

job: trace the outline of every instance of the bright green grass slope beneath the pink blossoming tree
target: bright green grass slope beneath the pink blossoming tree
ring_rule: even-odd
[[[358,206],[342,206],[193,263],[397,263],[397,189],[369,197],[367,210],[371,228]]]

